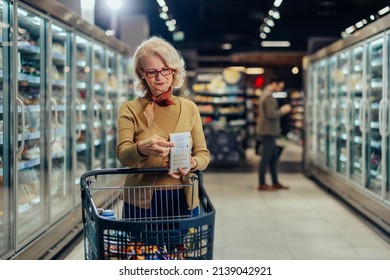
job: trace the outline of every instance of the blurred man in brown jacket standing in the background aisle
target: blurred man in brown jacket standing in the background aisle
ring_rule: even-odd
[[[259,99],[258,121],[256,126],[257,136],[261,138],[261,158],[259,163],[258,190],[274,191],[288,189],[278,180],[278,149],[276,139],[281,133],[280,117],[291,111],[291,106],[285,104],[279,108],[277,101],[272,96],[274,92],[284,89],[285,83],[279,77],[272,77],[270,83],[264,88]],[[266,184],[266,171],[269,168],[272,185]]]

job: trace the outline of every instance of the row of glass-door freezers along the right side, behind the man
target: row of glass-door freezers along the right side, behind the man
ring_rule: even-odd
[[[309,57],[305,171],[390,232],[390,16]]]

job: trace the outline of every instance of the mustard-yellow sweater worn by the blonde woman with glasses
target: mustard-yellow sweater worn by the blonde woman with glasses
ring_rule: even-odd
[[[188,99],[176,96],[172,96],[171,99],[175,105],[166,107],[154,105],[155,117],[150,127],[148,127],[144,115],[144,110],[150,102],[148,97],[139,97],[120,106],[116,155],[124,166],[134,168],[166,167],[168,158],[141,155],[137,148],[137,142],[153,135],[168,139],[170,133],[190,132],[192,156],[197,162],[196,169],[200,171],[206,169],[210,162],[210,152],[206,146],[198,107]],[[180,185],[184,183],[188,183],[188,180],[174,179],[167,173],[159,175],[129,174],[125,180],[126,186]],[[192,190],[185,188],[185,191],[187,205],[189,207],[192,205],[192,208],[196,207],[199,204],[197,189],[194,190],[193,200],[191,200]],[[137,194],[127,192],[124,200],[135,206],[148,209],[152,195],[153,189],[137,192]]]

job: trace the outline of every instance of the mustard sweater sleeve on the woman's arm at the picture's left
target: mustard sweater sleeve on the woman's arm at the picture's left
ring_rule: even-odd
[[[118,114],[118,144],[116,156],[127,167],[135,167],[144,159],[138,151],[137,143],[134,142],[135,118],[127,103],[123,103]]]

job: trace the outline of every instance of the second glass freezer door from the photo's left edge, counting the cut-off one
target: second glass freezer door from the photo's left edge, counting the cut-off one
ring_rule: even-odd
[[[18,8],[17,67],[17,245],[44,229],[44,20]]]

